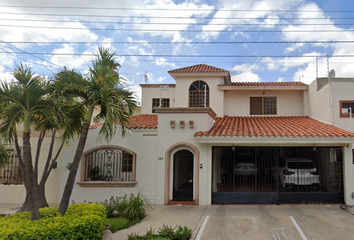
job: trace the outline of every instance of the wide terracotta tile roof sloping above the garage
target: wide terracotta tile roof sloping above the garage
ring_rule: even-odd
[[[354,137],[353,132],[309,117],[218,117],[194,137]]]

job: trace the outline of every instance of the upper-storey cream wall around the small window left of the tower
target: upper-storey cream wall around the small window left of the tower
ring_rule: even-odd
[[[168,89],[163,88],[168,84],[161,84],[155,87],[142,87],[141,94],[141,114],[152,113],[152,99],[153,98],[169,98],[170,107],[175,106],[175,87],[169,86]]]

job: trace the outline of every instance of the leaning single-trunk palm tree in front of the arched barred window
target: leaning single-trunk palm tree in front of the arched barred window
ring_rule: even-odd
[[[118,74],[120,65],[115,61],[114,56],[115,54],[108,49],[100,47],[95,61],[89,66],[86,78],[75,71],[64,70],[56,75],[53,82],[55,91],[66,97],[68,102],[75,101],[73,105],[84,114],[79,142],[59,204],[59,213],[62,215],[69,205],[89,127],[94,117],[94,109],[100,110],[96,118],[103,120],[100,136],[110,140],[116,133],[118,122],[122,125],[122,134],[125,134],[124,126],[129,122],[129,117],[137,106],[132,92],[126,90],[121,84]]]

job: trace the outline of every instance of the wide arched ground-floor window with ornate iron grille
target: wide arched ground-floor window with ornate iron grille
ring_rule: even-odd
[[[84,181],[135,181],[134,155],[116,148],[100,149],[85,156]]]

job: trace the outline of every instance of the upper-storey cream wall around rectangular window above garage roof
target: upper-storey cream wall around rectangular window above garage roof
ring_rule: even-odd
[[[264,92],[264,95],[263,95]],[[226,91],[224,112],[227,116],[249,116],[250,97],[276,97],[277,116],[304,116],[303,91],[244,90]]]

